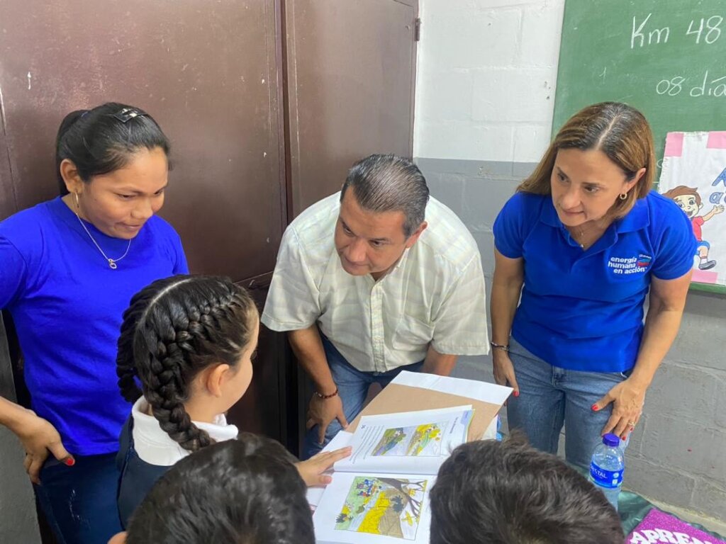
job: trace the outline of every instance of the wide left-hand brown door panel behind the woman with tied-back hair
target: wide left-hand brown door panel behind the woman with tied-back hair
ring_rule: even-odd
[[[53,148],[65,113],[127,102],[171,139],[162,215],[192,271],[236,281],[271,271],[285,213],[276,2],[99,5],[3,2],[0,89],[17,209],[57,194]]]

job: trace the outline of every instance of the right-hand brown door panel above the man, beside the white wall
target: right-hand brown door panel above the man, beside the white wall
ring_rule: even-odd
[[[417,0],[285,0],[290,219],[371,153],[411,156]]]

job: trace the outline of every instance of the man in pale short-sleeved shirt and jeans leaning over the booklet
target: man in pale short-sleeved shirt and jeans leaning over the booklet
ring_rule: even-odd
[[[410,160],[371,155],[282,237],[262,323],[311,377],[303,458],[401,370],[448,375],[489,353],[476,242]]]

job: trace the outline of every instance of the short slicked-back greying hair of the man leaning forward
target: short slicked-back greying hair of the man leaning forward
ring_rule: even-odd
[[[428,186],[421,170],[398,155],[373,154],[356,162],[340,191],[353,188],[358,205],[367,212],[403,212],[404,235],[408,238],[423,223],[428,202]]]

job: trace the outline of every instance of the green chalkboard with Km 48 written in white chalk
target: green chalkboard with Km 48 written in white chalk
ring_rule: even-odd
[[[726,0],[566,0],[552,133],[608,100],[645,114],[657,176],[666,133],[726,131]]]

